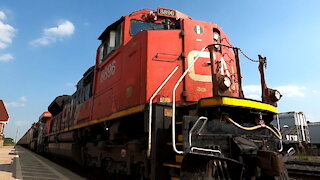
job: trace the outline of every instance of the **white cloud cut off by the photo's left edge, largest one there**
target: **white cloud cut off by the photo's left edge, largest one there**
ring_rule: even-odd
[[[3,23],[1,20],[4,18],[6,18],[5,14],[0,11],[0,49],[7,48],[12,43],[12,39],[17,31],[11,25]]]

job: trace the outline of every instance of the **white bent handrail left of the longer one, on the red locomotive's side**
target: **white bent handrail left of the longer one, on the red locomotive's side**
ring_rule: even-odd
[[[152,102],[153,99],[156,97],[156,95],[159,93],[159,91],[163,88],[163,86],[169,81],[169,79],[173,76],[173,74],[179,69],[179,65],[176,66],[173,71],[169,74],[169,76],[162,82],[162,84],[159,86],[159,88],[156,90],[156,92],[153,93],[153,95],[150,98],[149,102],[149,139],[148,139],[148,151],[147,155],[150,157],[151,153],[151,142],[152,142],[152,137],[151,137],[151,130],[152,130]]]

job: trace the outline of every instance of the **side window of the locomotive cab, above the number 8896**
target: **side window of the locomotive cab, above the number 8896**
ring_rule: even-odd
[[[114,50],[122,45],[123,33],[122,24],[120,23],[113,28],[109,29],[107,37],[104,38],[99,47],[99,63],[105,61],[106,57],[109,56]]]

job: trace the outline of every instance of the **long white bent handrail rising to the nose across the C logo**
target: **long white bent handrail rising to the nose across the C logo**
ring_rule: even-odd
[[[189,65],[188,69],[182,74],[180,79],[177,81],[175,84],[173,91],[172,91],[172,148],[173,150],[178,153],[178,154],[183,154],[183,151],[178,151],[177,146],[176,146],[176,90],[181,83],[181,81],[184,79],[184,77],[187,75],[187,73],[190,71],[191,67],[194,65],[194,63],[199,59],[200,54],[203,53],[203,51],[207,48],[208,46],[205,46],[201,49],[199,54],[196,56],[196,58],[191,62]]]

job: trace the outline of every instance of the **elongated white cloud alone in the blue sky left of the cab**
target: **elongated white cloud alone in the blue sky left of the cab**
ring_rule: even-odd
[[[70,21],[64,21],[57,27],[46,28],[43,30],[42,37],[30,42],[33,46],[47,46],[57,40],[62,41],[65,37],[73,35],[75,27]]]

